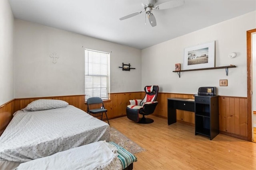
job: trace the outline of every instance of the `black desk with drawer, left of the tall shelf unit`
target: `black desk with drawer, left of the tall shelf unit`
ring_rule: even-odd
[[[195,102],[186,98],[167,98],[168,125],[176,123],[176,109],[195,111]]]

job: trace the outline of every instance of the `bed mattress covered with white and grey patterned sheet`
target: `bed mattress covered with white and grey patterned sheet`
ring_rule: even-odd
[[[0,160],[27,162],[109,139],[108,123],[71,105],[17,111],[0,137]]]

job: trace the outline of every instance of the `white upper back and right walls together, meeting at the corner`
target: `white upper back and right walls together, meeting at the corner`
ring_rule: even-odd
[[[84,94],[84,48],[111,52],[111,92],[135,92],[156,84],[160,92],[196,94],[201,86],[216,86],[222,96],[247,96],[246,31],[256,27],[256,12],[143,49],[15,20],[15,98]],[[174,72],[183,63],[184,48],[216,41],[215,65],[234,64],[228,76],[224,69]],[[49,57],[56,52],[53,64]],[[228,54],[236,52],[236,58]],[[141,58],[140,58],[141,57]],[[142,59],[142,60],[140,60]],[[122,63],[135,70],[122,71]],[[142,79],[142,80],[141,80]],[[219,80],[228,79],[220,87]]]

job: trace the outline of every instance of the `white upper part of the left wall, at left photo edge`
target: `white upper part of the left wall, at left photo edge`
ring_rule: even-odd
[[[14,17],[9,1],[0,0],[0,106],[14,99]]]

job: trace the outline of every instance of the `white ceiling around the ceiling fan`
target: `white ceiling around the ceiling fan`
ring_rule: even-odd
[[[161,4],[170,0],[156,0]],[[185,0],[182,6],[153,10],[151,27],[143,10],[148,0],[10,0],[15,18],[144,49],[256,10],[256,0]]]

